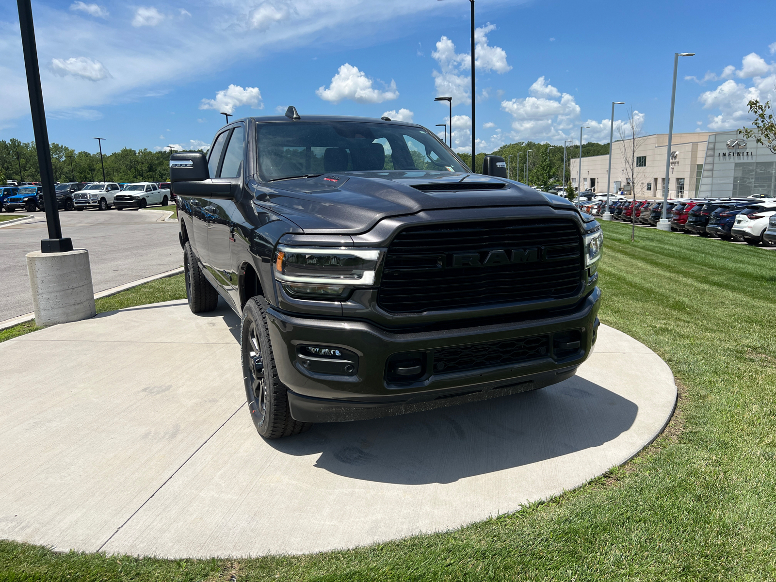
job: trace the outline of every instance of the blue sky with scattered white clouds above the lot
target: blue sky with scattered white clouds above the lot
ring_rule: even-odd
[[[145,2],[145,0],[144,0]],[[468,0],[33,0],[49,139],[77,151],[206,147],[284,113],[414,121],[471,151]],[[776,2],[476,0],[477,151],[749,123],[776,96]],[[16,2],[0,4],[0,139],[33,140]]]

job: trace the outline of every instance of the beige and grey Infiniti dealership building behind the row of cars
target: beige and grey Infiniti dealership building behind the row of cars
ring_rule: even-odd
[[[668,134],[615,141],[611,147],[611,192],[632,183],[637,198],[660,198],[666,182]],[[671,138],[670,198],[776,196],[776,154],[736,130],[674,133]],[[634,161],[635,163],[627,163]],[[608,155],[582,158],[582,190],[606,192]],[[571,184],[579,190],[579,158],[571,160]],[[632,166],[632,167],[629,167]]]

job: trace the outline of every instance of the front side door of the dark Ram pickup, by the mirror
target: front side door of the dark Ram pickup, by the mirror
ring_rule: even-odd
[[[241,125],[234,127],[223,154],[221,167],[216,178],[213,178],[214,182],[229,183],[233,196],[242,187],[244,138],[244,127]],[[237,289],[237,269],[232,262],[231,248],[235,241],[235,222],[240,221],[240,215],[234,197],[229,199],[213,198],[210,200],[210,206],[215,210],[215,216],[209,223],[207,230],[211,272],[219,282],[223,292],[230,298],[230,303],[233,303],[234,307],[237,308],[240,305],[240,298]]]

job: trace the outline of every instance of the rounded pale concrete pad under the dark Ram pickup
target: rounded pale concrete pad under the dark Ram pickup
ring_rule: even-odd
[[[0,538],[204,557],[444,531],[625,462],[677,395],[665,362],[602,325],[555,386],[266,442],[244,407],[238,329],[223,305],[197,316],[174,301],[0,344],[19,364],[0,386]]]

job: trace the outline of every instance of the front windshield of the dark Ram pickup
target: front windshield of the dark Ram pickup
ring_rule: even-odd
[[[468,172],[420,127],[353,121],[258,123],[262,178],[327,171],[436,170]]]

